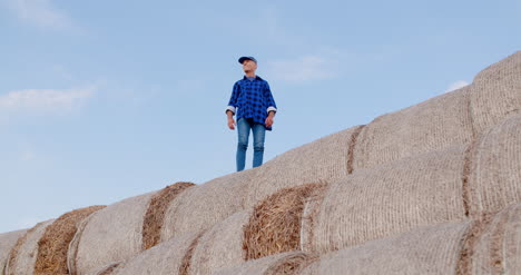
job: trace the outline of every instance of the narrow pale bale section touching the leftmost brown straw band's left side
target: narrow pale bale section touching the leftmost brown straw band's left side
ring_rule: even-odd
[[[9,254],[6,266],[7,275],[35,273],[35,264],[38,257],[38,240],[43,236],[46,228],[53,222],[55,219],[49,219],[35,225],[35,227],[17,240],[17,244]]]

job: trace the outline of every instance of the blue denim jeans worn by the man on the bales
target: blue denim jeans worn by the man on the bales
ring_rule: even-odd
[[[263,164],[264,136],[266,134],[266,128],[262,124],[254,124],[248,119],[239,118],[237,120],[237,171],[244,170],[244,166],[246,165],[246,149],[248,148],[249,130],[252,130],[254,136],[253,167],[257,167]]]

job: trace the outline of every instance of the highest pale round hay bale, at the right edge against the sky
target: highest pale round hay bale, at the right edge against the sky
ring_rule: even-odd
[[[476,132],[521,114],[521,51],[488,67],[472,82],[471,115]]]

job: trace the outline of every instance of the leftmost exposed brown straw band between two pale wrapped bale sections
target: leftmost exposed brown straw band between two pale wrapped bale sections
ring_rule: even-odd
[[[105,208],[105,206],[90,206],[76,209],[61,215],[46,228],[43,236],[38,240],[38,258],[35,274],[69,274],[67,267],[67,253],[78,224],[90,214]]]

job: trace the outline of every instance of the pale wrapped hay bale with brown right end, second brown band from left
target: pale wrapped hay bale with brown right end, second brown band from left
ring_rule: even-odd
[[[85,219],[68,252],[70,274],[88,274],[158,244],[166,205],[191,186],[176,183],[112,204]]]

